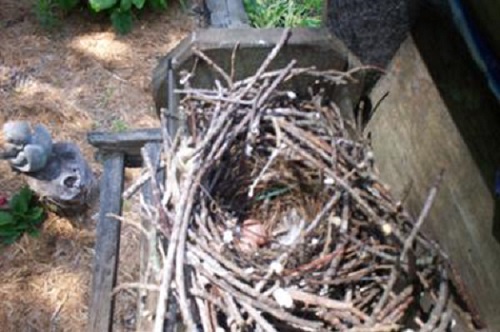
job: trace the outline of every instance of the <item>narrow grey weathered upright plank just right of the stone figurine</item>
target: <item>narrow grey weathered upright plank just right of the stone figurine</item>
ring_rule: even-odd
[[[100,211],[93,265],[92,294],[89,304],[88,331],[112,330],[118,256],[120,249],[120,222],[108,217],[122,212],[124,155],[109,153],[104,159],[101,179]]]

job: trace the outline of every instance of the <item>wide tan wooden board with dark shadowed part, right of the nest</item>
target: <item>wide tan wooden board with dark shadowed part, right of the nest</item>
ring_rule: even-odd
[[[488,330],[500,331],[500,105],[451,24],[427,13],[372,92],[389,92],[368,124],[383,180],[412,189],[417,215],[436,175],[443,184],[426,231],[439,241]]]

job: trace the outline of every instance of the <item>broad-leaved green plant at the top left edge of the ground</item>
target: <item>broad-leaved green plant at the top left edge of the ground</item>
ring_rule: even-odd
[[[58,23],[58,11],[67,13],[82,5],[94,13],[108,15],[116,32],[126,34],[132,30],[135,10],[142,10],[146,5],[164,10],[167,0],[37,0],[35,13],[42,26],[52,28]]]

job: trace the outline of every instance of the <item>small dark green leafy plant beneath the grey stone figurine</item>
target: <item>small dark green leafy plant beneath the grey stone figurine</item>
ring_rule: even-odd
[[[33,192],[22,188],[15,194],[5,210],[0,210],[0,242],[14,243],[21,235],[39,234],[38,226],[45,219],[45,210],[36,203]]]

